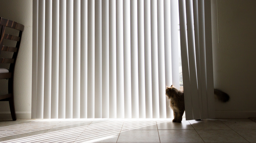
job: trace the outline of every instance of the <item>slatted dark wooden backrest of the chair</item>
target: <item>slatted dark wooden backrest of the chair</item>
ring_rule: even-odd
[[[0,63],[10,64],[9,72],[14,71],[23,30],[24,25],[0,17]],[[6,55],[10,55],[6,52],[12,52],[12,58],[6,57]]]

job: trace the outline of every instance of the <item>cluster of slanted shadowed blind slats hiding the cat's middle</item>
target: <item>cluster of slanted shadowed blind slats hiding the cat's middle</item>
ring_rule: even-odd
[[[214,118],[210,1],[179,0],[179,9],[186,119]]]

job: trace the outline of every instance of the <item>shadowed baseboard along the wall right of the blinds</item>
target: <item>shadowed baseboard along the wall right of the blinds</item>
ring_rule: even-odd
[[[216,118],[256,117],[256,111],[215,111]]]

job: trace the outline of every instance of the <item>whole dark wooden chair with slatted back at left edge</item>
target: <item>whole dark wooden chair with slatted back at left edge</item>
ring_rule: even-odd
[[[0,101],[9,101],[12,120],[16,120],[13,98],[13,73],[23,29],[24,25],[0,17],[0,80],[8,79],[8,93],[0,95]],[[12,33],[16,33],[18,36]],[[9,53],[13,53],[12,58],[10,58],[11,54]],[[0,87],[0,90],[4,91],[6,88]]]

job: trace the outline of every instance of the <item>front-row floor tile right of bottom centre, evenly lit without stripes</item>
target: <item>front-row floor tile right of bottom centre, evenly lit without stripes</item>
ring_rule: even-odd
[[[117,142],[160,142],[157,130],[124,130]]]

